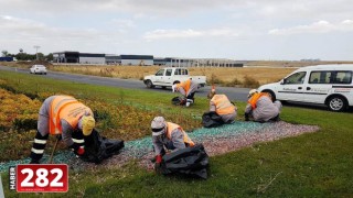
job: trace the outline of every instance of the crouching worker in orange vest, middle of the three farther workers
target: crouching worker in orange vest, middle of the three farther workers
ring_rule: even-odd
[[[224,123],[233,123],[237,116],[237,108],[229,101],[225,95],[216,95],[214,88],[208,92],[210,111],[215,111]]]

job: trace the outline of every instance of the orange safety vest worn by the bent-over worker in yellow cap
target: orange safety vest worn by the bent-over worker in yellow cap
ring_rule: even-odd
[[[57,96],[50,107],[50,133],[62,134],[60,120],[65,120],[73,129],[85,112],[93,114],[92,110],[71,96]]]

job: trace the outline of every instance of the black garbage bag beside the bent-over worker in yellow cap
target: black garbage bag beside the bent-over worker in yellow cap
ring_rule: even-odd
[[[85,136],[85,153],[81,158],[85,162],[99,164],[124,147],[124,141],[110,140],[101,136],[96,130],[92,131],[89,136]]]

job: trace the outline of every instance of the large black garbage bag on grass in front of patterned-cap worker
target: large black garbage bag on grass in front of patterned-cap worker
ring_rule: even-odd
[[[161,173],[207,178],[208,155],[202,144],[185,147],[163,156]]]

